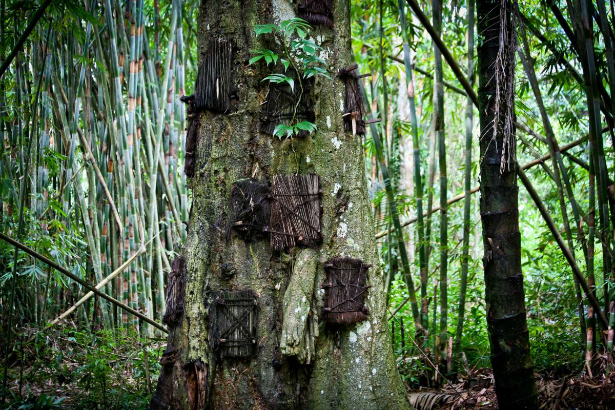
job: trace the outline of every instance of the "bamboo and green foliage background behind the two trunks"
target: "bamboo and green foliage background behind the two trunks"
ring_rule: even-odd
[[[432,3],[419,6],[431,20]],[[44,7],[42,17],[39,7]],[[185,238],[183,222],[191,203],[183,173],[186,106],[180,97],[193,92],[201,58],[198,7],[192,0],[3,0],[0,5],[0,60],[9,62],[2,66],[0,82],[0,232],[89,283],[111,276],[101,290],[155,323],[164,315],[170,261]],[[475,44],[481,38],[469,30],[468,10],[464,1],[445,4],[441,33],[472,82],[475,57],[468,58],[468,33]],[[566,24],[574,27],[578,20],[569,10],[557,1],[518,4],[517,161],[533,165],[526,168],[531,184],[574,250],[579,270],[595,285],[605,317],[614,320],[615,315],[609,317],[613,189],[608,175],[614,172],[615,15],[613,2],[598,0],[588,45],[601,84],[598,123],[606,127],[600,186],[593,183],[593,164],[599,163],[593,152],[598,151],[587,142],[596,117],[587,103],[582,52],[566,31]],[[477,111],[451,67],[436,62],[431,36],[405,2],[353,0],[350,18],[359,70],[371,73],[363,79],[367,111],[382,119],[374,127],[383,151],[376,151],[370,132],[363,146],[387,277],[392,349],[409,390],[437,387],[446,384],[442,375],[454,380],[466,366],[490,366],[479,198],[466,185],[466,176],[470,188],[480,179]],[[14,56],[13,49],[18,50]],[[415,97],[415,108],[408,97]],[[468,109],[474,120],[468,119]],[[554,169],[541,157],[558,151],[556,146],[562,152],[555,155]],[[466,212],[464,191],[470,198]],[[417,223],[418,198],[426,212],[423,223]],[[395,229],[392,206],[401,232]],[[613,351],[612,335],[606,350],[596,352],[602,335],[591,333],[592,309],[582,302],[571,264],[523,188],[519,219],[534,369],[555,379],[570,374],[608,379],[612,358],[605,352]],[[0,241],[0,267],[7,403],[146,408],[165,347],[161,329],[98,296],[82,300],[86,290],[78,283],[16,253],[5,241]],[[420,328],[409,282],[416,290]]]

